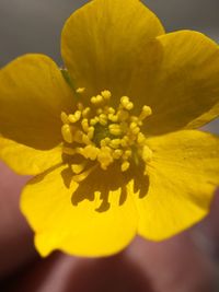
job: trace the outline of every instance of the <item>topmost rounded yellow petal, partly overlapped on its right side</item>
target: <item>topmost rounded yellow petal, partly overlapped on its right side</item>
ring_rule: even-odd
[[[62,58],[78,87],[92,96],[108,89],[123,96],[139,47],[163,34],[138,0],[94,0],[74,12],[62,31]]]

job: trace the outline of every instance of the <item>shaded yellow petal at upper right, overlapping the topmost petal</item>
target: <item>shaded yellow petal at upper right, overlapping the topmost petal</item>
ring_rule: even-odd
[[[147,132],[197,128],[219,115],[219,46],[215,42],[181,31],[158,36],[147,47],[150,62],[141,55],[129,95],[152,108]]]

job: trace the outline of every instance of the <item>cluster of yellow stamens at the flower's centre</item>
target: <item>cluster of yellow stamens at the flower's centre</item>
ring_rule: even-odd
[[[79,89],[78,93],[81,92]],[[104,171],[119,162],[120,171],[126,172],[131,163],[146,164],[151,159],[152,152],[141,132],[143,120],[152,114],[151,108],[145,105],[139,116],[135,116],[128,96],[120,97],[117,108],[110,106],[111,97],[111,92],[105,90],[91,97],[90,106],[78,103],[73,114],[61,113],[64,153],[85,159],[83,163],[71,165],[77,175],[84,171],[88,161]]]

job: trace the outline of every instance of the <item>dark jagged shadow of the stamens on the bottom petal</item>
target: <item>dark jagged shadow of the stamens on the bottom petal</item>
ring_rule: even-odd
[[[61,176],[66,187],[70,188],[73,176],[70,166],[61,172]],[[131,184],[129,183],[131,182],[134,184],[130,187]],[[143,198],[148,188],[149,177],[143,174],[143,167],[132,166],[129,171],[123,173],[117,164],[113,164],[107,171],[100,167],[94,168],[82,182],[77,184],[71,202],[73,206],[78,206],[83,200],[100,200],[95,211],[105,212],[112,203],[111,194],[116,192],[116,203],[122,206],[129,194],[137,194],[139,198]]]

